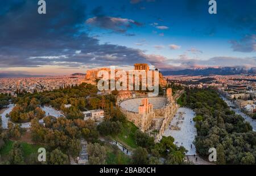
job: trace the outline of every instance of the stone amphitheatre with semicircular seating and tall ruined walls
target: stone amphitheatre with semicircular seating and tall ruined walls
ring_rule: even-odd
[[[162,138],[179,108],[170,88],[165,97],[125,99],[119,103],[119,107],[129,121],[141,131],[155,137],[155,141]]]

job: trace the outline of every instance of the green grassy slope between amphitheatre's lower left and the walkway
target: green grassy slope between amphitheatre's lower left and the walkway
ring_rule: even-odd
[[[114,139],[118,140],[120,143],[126,146],[130,146],[131,148],[137,148],[138,146],[135,143],[135,131],[137,131],[137,127],[131,123],[130,121],[127,121],[125,124],[123,124],[122,132],[118,134],[118,136],[115,136]]]

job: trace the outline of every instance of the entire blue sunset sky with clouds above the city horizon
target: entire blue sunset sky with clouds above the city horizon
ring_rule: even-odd
[[[99,67],[256,67],[256,1],[0,2],[0,74],[65,75]]]

